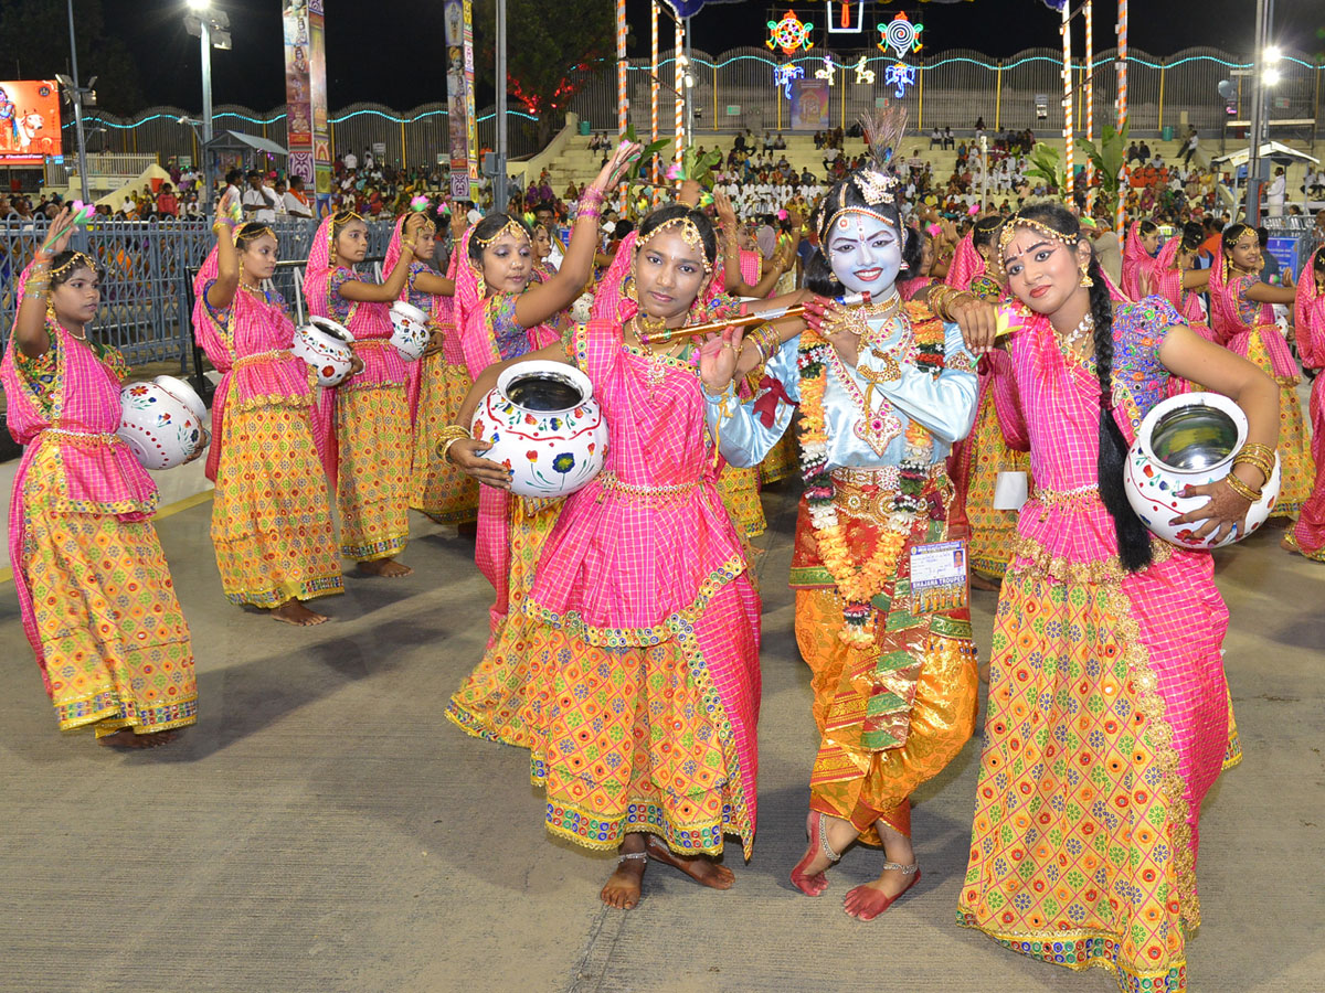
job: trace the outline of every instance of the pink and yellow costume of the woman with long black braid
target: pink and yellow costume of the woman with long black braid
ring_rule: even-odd
[[[984,748],[958,922],[1124,990],[1186,988],[1200,922],[1200,801],[1231,731],[1228,610],[1208,553],[1154,540],[1118,563],[1097,489],[1100,385],[1043,315],[1018,307],[1010,375],[1035,490],[994,624]],[[1128,438],[1165,399],[1159,347],[1181,316],[1155,297],[1113,319],[1112,414]]]

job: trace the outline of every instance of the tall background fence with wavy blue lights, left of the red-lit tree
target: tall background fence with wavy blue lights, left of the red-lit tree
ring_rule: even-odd
[[[91,111],[83,119],[87,148],[110,155],[155,152],[160,162],[187,156],[195,163],[199,156],[196,114],[179,107],[148,107],[130,118]],[[286,143],[285,106],[264,113],[235,103],[220,105],[212,114],[216,130],[242,131],[261,135],[282,147]],[[450,158],[450,139],[447,131],[447,105],[423,103],[400,114],[382,103],[351,103],[330,117],[331,147],[338,152],[356,155],[376,144],[386,146],[386,162],[403,166],[432,166],[437,156]],[[522,111],[506,113],[510,156],[521,158],[538,151],[538,118]],[[74,155],[78,147],[74,123],[66,120],[61,128],[64,154]],[[493,148],[497,144],[497,115],[492,107],[478,113],[478,144]],[[136,175],[136,173],[135,173]]]

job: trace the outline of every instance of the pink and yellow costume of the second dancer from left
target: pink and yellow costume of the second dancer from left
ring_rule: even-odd
[[[193,281],[193,334],[223,373],[207,453],[221,589],[233,604],[268,609],[341,593],[311,377],[290,352],[294,322],[280,294],[242,286],[227,310],[213,310],[207,290],[217,273],[212,249]]]

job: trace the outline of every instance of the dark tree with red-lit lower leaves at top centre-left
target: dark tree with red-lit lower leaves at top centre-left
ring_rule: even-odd
[[[474,3],[474,61],[496,86],[494,0]],[[506,0],[506,91],[538,118],[546,144],[566,122],[571,98],[616,61],[613,7],[604,0]]]

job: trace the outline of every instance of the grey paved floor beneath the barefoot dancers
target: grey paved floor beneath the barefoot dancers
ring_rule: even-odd
[[[56,732],[13,585],[0,585],[0,990],[1113,989],[954,925],[978,741],[922,790],[925,878],[885,918],[840,907],[874,874],[869,851],[849,853],[818,900],[791,890],[816,741],[784,587],[794,496],[765,506],[754,859],[729,854],[723,894],[655,866],[628,914],[598,902],[610,858],[543,834],[523,753],[441,718],[490,600],[453,531],[416,518],[415,575],[348,579],[322,601],[334,622],[303,632],[221,598],[209,502],[162,520],[203,714],[142,755]],[[1192,990],[1325,989],[1325,567],[1277,538],[1219,553],[1247,759],[1206,804]],[[977,594],[982,646],[992,606]]]

